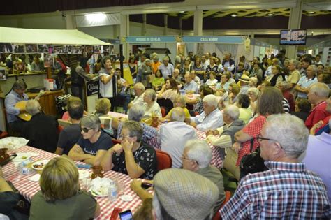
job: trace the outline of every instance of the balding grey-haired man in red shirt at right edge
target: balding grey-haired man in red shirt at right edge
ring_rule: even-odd
[[[309,113],[306,122],[304,122],[308,129],[311,129],[314,124],[330,115],[330,113],[327,112],[325,109],[325,101],[329,97],[329,92],[330,89],[328,85],[322,82],[316,82],[314,85],[311,85],[311,87],[309,87],[308,101],[309,103],[314,105],[314,108]]]

